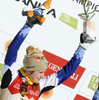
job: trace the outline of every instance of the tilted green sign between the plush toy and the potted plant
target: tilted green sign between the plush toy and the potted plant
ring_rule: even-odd
[[[77,29],[78,20],[67,15],[64,13],[61,13],[61,16],[59,18],[60,21],[64,22],[65,24],[69,25],[70,27]]]

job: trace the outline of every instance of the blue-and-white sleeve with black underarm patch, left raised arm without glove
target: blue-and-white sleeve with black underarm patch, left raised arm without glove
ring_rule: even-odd
[[[6,88],[10,84],[11,81],[16,77],[17,72],[15,68],[15,62],[17,59],[17,51],[21,46],[22,42],[29,34],[31,27],[27,24],[23,26],[23,28],[18,32],[10,46],[8,47],[8,51],[5,57],[4,66],[2,69],[2,84],[1,88]],[[7,80],[7,81],[6,81]]]

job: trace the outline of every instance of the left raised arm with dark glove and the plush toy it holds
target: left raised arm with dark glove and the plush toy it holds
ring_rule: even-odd
[[[33,16],[29,16],[33,14]],[[17,59],[17,52],[23,43],[24,39],[29,34],[30,30],[35,24],[42,24],[45,20],[42,17],[43,10],[41,8],[37,8],[35,10],[22,11],[22,14],[27,16],[26,24],[21,28],[21,30],[17,33],[10,46],[8,47],[8,51],[5,57],[4,66],[2,70],[2,83],[1,88],[6,88],[11,84],[13,79],[18,75],[17,69],[15,68],[15,62]],[[38,16],[38,17],[37,17]],[[7,81],[6,81],[7,80]]]

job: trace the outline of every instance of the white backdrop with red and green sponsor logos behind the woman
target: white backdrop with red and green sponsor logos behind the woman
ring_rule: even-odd
[[[14,36],[26,23],[22,9],[39,7],[44,0],[0,0],[0,84],[1,71],[7,48]],[[85,30],[96,36],[85,52],[84,58],[72,76],[61,85],[41,95],[39,100],[91,100],[98,86],[99,74],[99,1],[86,0],[89,12],[94,11],[90,22],[78,14],[84,13],[81,0],[52,0],[50,8],[44,13],[46,21],[42,26],[35,25],[18,51],[16,68],[23,66],[23,58],[29,45],[42,50],[48,61],[45,76],[61,70],[73,56],[80,43],[80,34]],[[94,38],[94,37],[93,37]]]

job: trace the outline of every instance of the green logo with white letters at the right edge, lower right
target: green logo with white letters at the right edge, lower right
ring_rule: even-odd
[[[92,78],[88,84],[88,88],[90,88],[93,91],[96,91],[98,87],[98,77],[95,75],[92,75]]]

